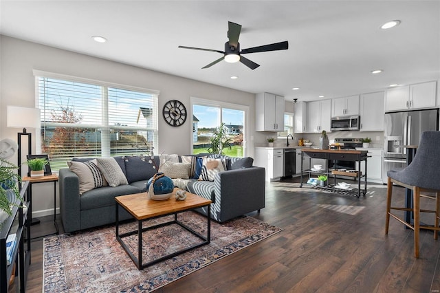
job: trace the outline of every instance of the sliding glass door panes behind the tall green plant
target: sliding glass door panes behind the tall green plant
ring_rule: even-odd
[[[249,107],[192,98],[192,153],[207,153],[213,131],[223,122],[232,144],[223,149],[230,157],[245,155]]]

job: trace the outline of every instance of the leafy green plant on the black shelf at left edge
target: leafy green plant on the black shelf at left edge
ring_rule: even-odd
[[[0,213],[3,210],[4,213],[12,215],[11,204],[14,199],[23,200],[17,184],[20,179],[15,172],[17,169],[18,166],[0,158]]]

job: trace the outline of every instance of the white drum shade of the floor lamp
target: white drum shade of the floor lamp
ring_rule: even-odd
[[[36,128],[40,124],[40,109],[8,106],[7,126],[17,128]]]

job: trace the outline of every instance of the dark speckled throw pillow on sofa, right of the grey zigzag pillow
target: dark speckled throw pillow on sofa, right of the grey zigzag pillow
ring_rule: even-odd
[[[123,157],[125,162],[126,179],[131,184],[141,180],[148,180],[157,171],[159,166],[159,157],[153,158],[143,155],[126,155]]]

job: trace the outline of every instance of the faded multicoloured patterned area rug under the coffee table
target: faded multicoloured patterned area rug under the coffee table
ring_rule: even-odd
[[[151,226],[171,218],[147,221]],[[179,220],[206,235],[206,217],[194,212],[179,214]],[[135,230],[131,222],[121,232]],[[224,224],[211,221],[211,242],[140,271],[115,239],[115,227],[44,239],[43,292],[151,292],[223,257],[270,237],[282,229],[243,216]],[[144,233],[143,262],[201,241],[173,224]],[[130,250],[137,241],[126,239]],[[137,254],[136,254],[137,255]]]

